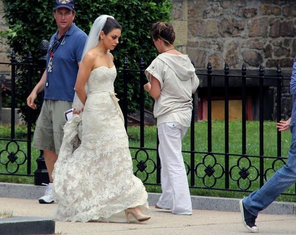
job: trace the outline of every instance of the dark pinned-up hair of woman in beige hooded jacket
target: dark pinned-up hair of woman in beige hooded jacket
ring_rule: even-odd
[[[153,40],[160,38],[166,45],[173,44],[175,41],[175,31],[172,24],[168,22],[153,23],[150,29],[150,34]]]

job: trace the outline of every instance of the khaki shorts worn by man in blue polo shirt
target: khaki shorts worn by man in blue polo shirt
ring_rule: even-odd
[[[59,153],[66,123],[64,112],[72,108],[70,101],[44,100],[36,121],[33,146]]]

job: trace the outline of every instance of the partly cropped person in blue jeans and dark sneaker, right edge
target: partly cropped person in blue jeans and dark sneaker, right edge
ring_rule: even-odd
[[[244,226],[252,233],[259,233],[259,229],[255,224],[258,213],[267,208],[281,193],[296,183],[296,57],[293,63],[290,91],[293,97],[292,116],[287,121],[280,121],[277,125],[279,131],[291,129],[291,147],[287,163],[261,189],[240,200]]]

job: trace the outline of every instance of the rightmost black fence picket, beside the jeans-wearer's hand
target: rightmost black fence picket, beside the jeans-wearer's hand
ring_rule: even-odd
[[[277,122],[280,122],[282,118],[282,68],[280,65],[277,67]],[[278,157],[282,156],[282,135],[281,131],[277,131],[277,151]]]

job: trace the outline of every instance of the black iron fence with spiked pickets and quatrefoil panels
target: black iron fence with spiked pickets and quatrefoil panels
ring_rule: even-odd
[[[17,63],[15,57],[12,55],[11,63],[0,63],[6,64],[11,67],[11,127],[10,127],[10,138],[0,138],[2,143],[2,149],[0,149],[0,175],[11,175],[11,176],[29,176],[35,177],[35,184],[41,184],[42,180],[46,175],[46,168],[44,161],[42,160],[42,153],[40,153],[37,159],[37,169],[32,170],[32,158],[31,158],[31,110],[27,108],[28,120],[27,120],[27,137],[26,139],[15,138],[15,125],[14,125],[14,109],[15,109],[15,76],[16,68],[18,66],[27,66],[28,76],[27,76],[27,94],[30,93],[32,89],[32,70],[40,70],[40,66],[32,64],[29,57],[27,63]],[[44,63],[43,63],[44,64]],[[42,69],[41,69],[42,71]],[[159,185],[160,184],[160,160],[157,152],[158,138],[155,132],[155,146],[147,147],[145,141],[145,99],[148,94],[144,92],[144,84],[146,83],[145,77],[145,64],[143,59],[139,64],[139,70],[129,69],[128,60],[124,61],[123,69],[118,69],[118,78],[121,79],[123,83],[123,93],[124,99],[122,101],[122,110],[125,118],[125,128],[129,132],[128,126],[128,99],[127,94],[129,75],[134,74],[140,76],[140,122],[139,122],[139,146],[130,146],[132,157],[134,161],[134,173],[139,176],[142,181],[147,185]],[[187,132],[190,134],[190,149],[184,150],[184,163],[187,170],[189,186],[191,188],[199,189],[212,189],[212,190],[227,190],[227,191],[238,191],[238,192],[251,192],[259,187],[261,187],[265,180],[267,180],[271,172],[275,172],[279,165],[285,164],[287,158],[282,157],[282,140],[281,132],[277,131],[277,143],[275,148],[277,149],[277,154],[275,156],[265,155],[264,149],[264,89],[266,83],[271,84],[274,87],[275,97],[276,97],[276,121],[281,120],[282,115],[282,88],[283,84],[287,83],[290,78],[285,78],[282,76],[281,67],[278,66],[276,71],[276,76],[265,76],[265,71],[261,65],[258,71],[258,75],[250,76],[247,75],[247,69],[245,64],[243,64],[241,69],[241,74],[232,75],[229,71],[229,66],[226,63],[224,68],[224,73],[216,74],[212,73],[211,64],[208,63],[207,73],[197,73],[200,81],[201,87],[198,88],[196,94],[193,97],[193,110],[192,110],[192,121],[191,126]],[[224,146],[219,151],[213,151],[213,120],[212,120],[212,100],[213,100],[213,84],[214,80],[219,80],[220,87],[219,91],[223,93],[220,96],[220,100],[224,102],[224,133],[221,132],[221,138],[224,138]],[[231,82],[230,82],[231,80]],[[241,131],[241,151],[240,152],[230,152],[231,141],[229,139],[230,129],[230,117],[229,117],[229,101],[231,100],[232,94],[230,92],[230,87],[232,82],[235,81],[235,90],[239,90],[238,94],[241,101],[241,121],[240,131]],[[253,87],[256,87],[259,108],[259,154],[248,154],[247,151],[247,89],[249,87],[250,81],[253,82]],[[255,85],[254,85],[255,84]],[[215,85],[216,86],[216,85]],[[196,129],[196,120],[198,118],[199,108],[197,107],[197,101],[200,99],[199,93],[201,89],[205,90],[206,97],[206,122],[207,122],[207,146],[206,151],[197,151],[199,146],[196,146],[196,136],[199,134],[198,129]],[[236,94],[237,96],[237,94]],[[256,99],[257,99],[256,98]],[[220,121],[221,122],[221,121]],[[157,131],[157,130],[156,130]],[[24,142],[25,145],[20,143]],[[13,147],[11,147],[13,145]],[[11,150],[12,149],[12,150]],[[280,163],[280,164],[279,164]],[[19,174],[20,166],[26,166],[25,173]],[[11,170],[13,169],[13,170]],[[47,177],[47,176],[46,176]],[[223,184],[221,184],[223,181]],[[220,182],[220,184],[218,184]],[[285,193],[288,195],[296,195],[296,185],[293,191]]]

